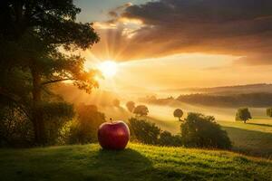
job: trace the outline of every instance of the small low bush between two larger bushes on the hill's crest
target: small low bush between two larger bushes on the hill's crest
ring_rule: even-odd
[[[172,135],[169,131],[165,130],[160,133],[159,145],[169,147],[181,147],[182,139],[180,135]]]

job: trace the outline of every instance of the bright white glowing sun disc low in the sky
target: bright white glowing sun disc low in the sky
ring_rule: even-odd
[[[117,63],[111,60],[101,62],[98,69],[102,71],[104,77],[113,77],[117,72]]]

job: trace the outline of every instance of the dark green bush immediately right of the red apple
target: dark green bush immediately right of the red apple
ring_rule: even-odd
[[[144,144],[156,145],[160,138],[160,128],[144,119],[129,119],[131,138]]]

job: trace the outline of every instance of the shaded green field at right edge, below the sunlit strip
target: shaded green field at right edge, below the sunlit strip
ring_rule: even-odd
[[[233,150],[249,156],[272,156],[272,133],[223,127],[233,143]]]

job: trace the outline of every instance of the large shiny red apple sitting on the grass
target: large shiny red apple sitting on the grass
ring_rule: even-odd
[[[130,139],[130,129],[123,121],[104,122],[98,129],[98,141],[104,149],[123,149]]]

